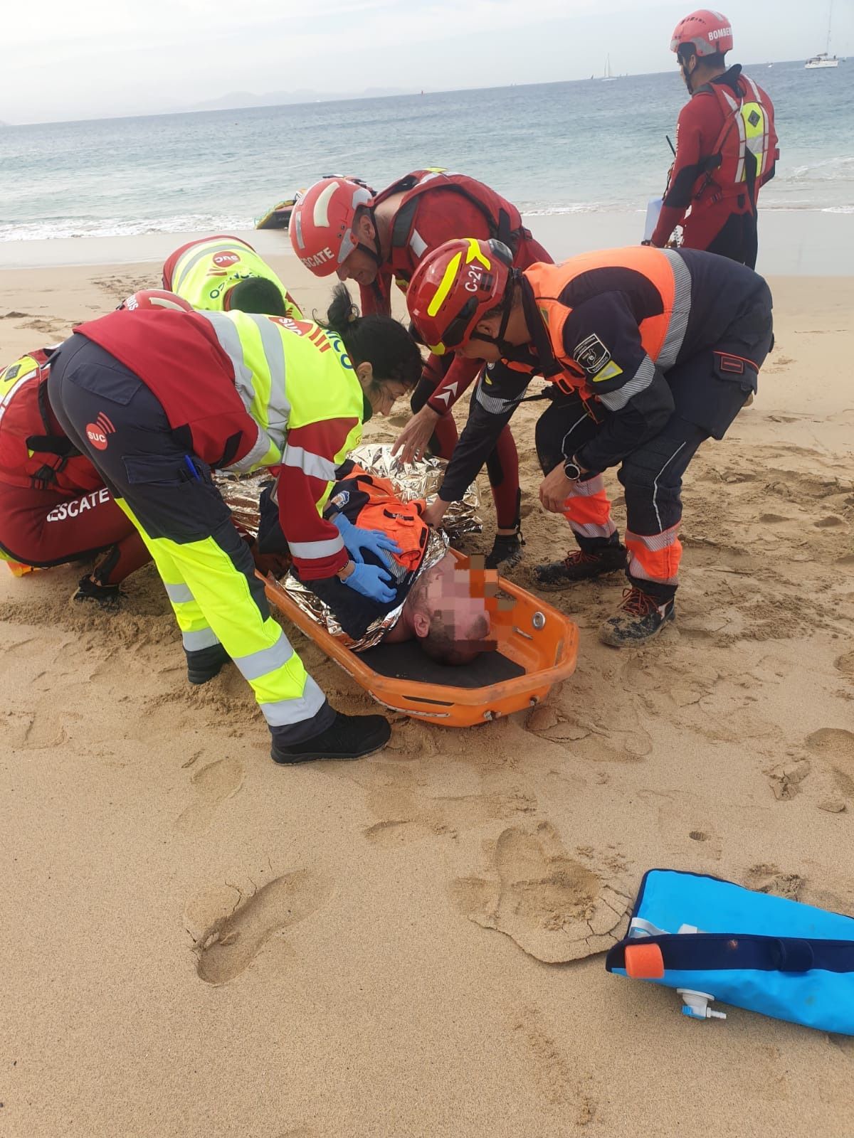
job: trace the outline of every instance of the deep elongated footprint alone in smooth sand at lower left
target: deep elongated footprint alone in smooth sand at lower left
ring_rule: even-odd
[[[229,910],[228,898],[235,893],[238,902]],[[235,889],[196,898],[187,907],[188,921],[198,927],[199,917],[208,915],[206,926],[194,937],[198,975],[208,984],[227,984],[248,968],[271,937],[311,916],[330,893],[328,879],[298,869],[274,877],[246,899]],[[220,909],[213,920],[212,907]]]

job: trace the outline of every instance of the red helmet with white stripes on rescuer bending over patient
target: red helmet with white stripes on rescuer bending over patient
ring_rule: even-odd
[[[329,277],[356,248],[356,209],[367,206],[372,197],[368,187],[348,178],[325,178],[294,206],[288,224],[290,244],[315,277]]]

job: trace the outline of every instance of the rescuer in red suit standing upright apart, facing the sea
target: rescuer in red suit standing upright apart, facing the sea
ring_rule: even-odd
[[[771,99],[738,64],[726,67],[731,49],[732,27],[718,11],[691,13],[673,32],[671,51],[691,98],[679,116],[676,156],[651,244],[664,247],[682,225],[687,248],[753,269],[756,203],[780,151]]]

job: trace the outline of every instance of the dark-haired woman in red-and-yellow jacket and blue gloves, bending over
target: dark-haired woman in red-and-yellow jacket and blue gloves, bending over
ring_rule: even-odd
[[[383,747],[389,727],[381,716],[336,712],[306,675],[270,616],[211,470],[278,467],[279,519],[301,576],[337,575],[368,596],[391,597],[388,575],[360,553],[373,535],[351,527],[342,536],[321,512],[337,465],[361,437],[363,393],[387,412],[420,364],[405,329],[355,318],[344,288],[325,327],[125,310],[81,324],[51,361],[54,412],[148,546],[190,683],[233,660],[270,726],[277,762],[358,758]]]

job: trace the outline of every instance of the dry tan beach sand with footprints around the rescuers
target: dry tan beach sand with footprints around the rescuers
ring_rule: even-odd
[[[7,270],[1,358],[155,283]],[[619,578],[549,594],[578,669],[529,714],[280,768],[233,668],[188,686],[150,569],[115,617],[69,602],[79,568],[0,574],[3,1138],[851,1135],[854,1039],[691,1022],[602,956],[654,866],[854,914],[854,281],[772,286],[759,397],[687,478],[676,625],[616,652]],[[569,546],[537,411],[525,585]]]

